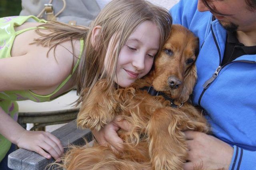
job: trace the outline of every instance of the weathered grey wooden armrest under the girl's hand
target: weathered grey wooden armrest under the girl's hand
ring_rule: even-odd
[[[88,142],[92,140],[90,130],[77,129],[75,120],[54,130],[52,134],[60,139],[64,147],[70,144],[84,145],[84,138]],[[66,148],[65,151],[67,149],[68,148]],[[8,167],[13,170],[45,170],[45,167],[52,162],[54,162],[54,159],[48,160],[36,152],[24,149],[18,149],[8,156]]]

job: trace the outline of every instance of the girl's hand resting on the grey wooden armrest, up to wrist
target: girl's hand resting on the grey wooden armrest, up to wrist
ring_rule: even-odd
[[[57,160],[64,152],[60,140],[50,132],[24,130],[17,139],[16,145],[34,151],[47,159],[52,156]]]

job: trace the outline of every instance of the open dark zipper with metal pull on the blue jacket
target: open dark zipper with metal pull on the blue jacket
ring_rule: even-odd
[[[214,32],[212,30],[212,25],[211,25],[211,31],[212,31],[212,36],[214,38],[214,42],[215,42],[216,47],[218,49],[218,54],[219,54],[219,58],[220,58],[219,61],[221,61],[220,48],[218,46],[216,37],[215,37]],[[244,62],[244,63],[250,63],[250,64],[255,64],[256,63],[254,61],[249,61],[249,60],[236,60],[236,61],[228,62],[228,63],[224,64],[223,66],[221,66],[221,62],[219,62],[219,66],[217,67],[216,71],[212,74],[212,77],[210,77],[208,80],[206,80],[206,82],[203,85],[204,90],[202,91],[202,93],[201,93],[201,95],[198,99],[198,105],[199,106],[201,106],[201,99],[202,99],[202,96],[203,96],[204,92],[210,86],[210,84],[212,84],[212,82],[217,78],[218,74],[220,73],[220,70],[222,70],[226,65],[234,63],[234,62]]]

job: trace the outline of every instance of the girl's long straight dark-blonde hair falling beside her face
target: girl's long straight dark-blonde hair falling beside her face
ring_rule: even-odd
[[[44,41],[40,40],[41,44],[49,44],[52,40],[61,40],[58,42],[59,44],[73,38],[85,40],[85,48],[76,77],[76,88],[78,94],[80,94],[78,104],[82,102],[82,98],[85,95],[82,93],[82,89],[87,89],[86,96],[88,96],[90,89],[101,78],[106,78],[108,82],[106,90],[111,91],[111,87],[114,87],[114,76],[116,75],[119,53],[134,30],[146,20],[158,26],[160,32],[159,49],[162,50],[162,46],[171,31],[172,17],[165,8],[153,5],[146,0],[112,0],[91,23],[89,30],[87,28],[67,26],[66,24],[62,24],[60,27],[54,22],[42,25],[45,28],[50,28],[54,36],[49,35],[46,39],[46,35],[44,35]],[[96,42],[96,48],[92,46],[91,42],[92,30],[95,26],[101,26],[100,38]],[[106,67],[104,67],[104,59],[112,36],[114,36],[113,45],[110,47]]]

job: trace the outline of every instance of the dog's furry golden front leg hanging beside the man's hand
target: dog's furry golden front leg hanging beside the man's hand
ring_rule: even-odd
[[[171,110],[158,108],[148,126],[149,153],[155,170],[182,170],[187,148],[184,134],[171,129],[178,118]]]

